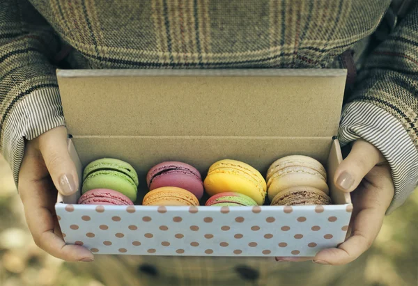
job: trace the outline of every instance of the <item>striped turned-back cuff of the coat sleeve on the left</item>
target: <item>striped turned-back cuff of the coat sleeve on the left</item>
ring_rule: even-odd
[[[15,105],[3,125],[3,156],[13,170],[16,186],[24,155],[24,139],[31,140],[65,125],[58,88],[43,88],[26,95]]]

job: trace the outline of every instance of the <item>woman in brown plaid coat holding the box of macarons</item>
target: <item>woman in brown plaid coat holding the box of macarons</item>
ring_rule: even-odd
[[[0,150],[13,168],[36,244],[63,260],[88,262],[93,254],[65,245],[53,216],[54,191],[69,195],[78,189],[56,66],[345,67],[339,139],[353,148],[336,183],[354,191],[353,232],[314,262],[346,264],[371,246],[385,214],[417,185],[417,54],[415,1],[3,0]],[[154,285],[280,281],[277,264],[261,259],[142,259],[125,257],[124,263],[139,267],[146,273],[142,283]]]

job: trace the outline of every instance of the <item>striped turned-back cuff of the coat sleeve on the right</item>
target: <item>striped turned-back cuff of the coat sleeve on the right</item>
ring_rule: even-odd
[[[350,102],[341,115],[341,145],[358,138],[378,148],[392,169],[395,193],[386,212],[390,214],[405,202],[418,184],[418,150],[401,122],[369,102]]]

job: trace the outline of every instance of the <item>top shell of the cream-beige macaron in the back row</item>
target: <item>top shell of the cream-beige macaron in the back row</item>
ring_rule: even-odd
[[[295,166],[306,167],[316,170],[316,172],[320,173],[320,175],[323,175],[323,177],[325,177],[325,180],[327,180],[327,172],[323,164],[320,164],[320,162],[314,158],[303,155],[286,156],[274,161],[270,165],[270,168],[268,168],[266,178],[267,180],[270,180],[270,177],[272,177],[274,173],[277,173],[278,170]]]

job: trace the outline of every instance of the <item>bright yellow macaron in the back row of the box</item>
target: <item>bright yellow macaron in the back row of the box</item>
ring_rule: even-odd
[[[267,190],[265,180],[258,170],[231,159],[212,164],[203,185],[210,196],[224,192],[242,193],[255,200],[257,205],[263,205]]]

